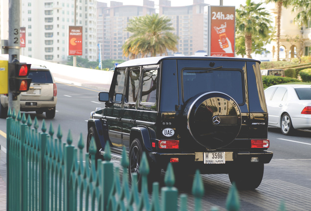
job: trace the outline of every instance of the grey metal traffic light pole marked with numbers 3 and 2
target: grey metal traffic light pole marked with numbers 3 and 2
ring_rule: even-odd
[[[9,63],[19,62],[20,60],[20,8],[20,0],[9,0]],[[9,68],[9,78],[13,74],[14,69]],[[12,89],[10,89],[10,84],[8,94],[9,108],[14,109],[18,112],[20,110],[20,96],[19,93],[15,93],[12,91]]]

